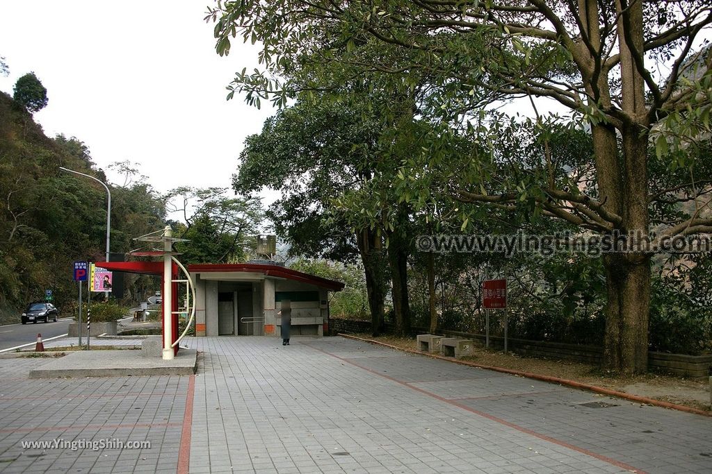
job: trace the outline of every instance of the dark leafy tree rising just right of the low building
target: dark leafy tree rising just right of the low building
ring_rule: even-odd
[[[290,242],[290,254],[347,262],[360,257],[377,335],[384,318],[387,272],[381,233],[352,222],[334,200],[367,188],[379,156],[379,122],[367,105],[298,101],[248,136],[233,185],[240,193],[279,190],[268,217]],[[365,112],[362,116],[361,112]]]

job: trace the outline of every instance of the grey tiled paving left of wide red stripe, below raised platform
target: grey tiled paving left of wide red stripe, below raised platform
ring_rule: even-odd
[[[28,379],[0,360],[1,473],[175,473],[189,377]],[[22,441],[150,441],[146,449],[26,449]]]

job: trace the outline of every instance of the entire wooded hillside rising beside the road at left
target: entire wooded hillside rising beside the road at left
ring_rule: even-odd
[[[79,139],[48,138],[24,107],[0,92],[0,323],[12,322],[46,289],[68,316],[77,293],[72,262],[105,259],[106,192],[60,166],[106,181]],[[164,204],[150,185],[127,182],[111,186],[112,253],[128,252],[132,237],[164,225]],[[150,285],[133,277],[127,298]]]

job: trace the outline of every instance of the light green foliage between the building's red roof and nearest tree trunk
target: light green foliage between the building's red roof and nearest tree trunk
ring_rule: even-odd
[[[360,265],[344,265],[323,259],[298,258],[290,264],[290,269],[321,276],[346,284],[342,291],[333,293],[329,301],[329,313],[333,317],[364,320],[368,319],[368,298],[363,269]]]

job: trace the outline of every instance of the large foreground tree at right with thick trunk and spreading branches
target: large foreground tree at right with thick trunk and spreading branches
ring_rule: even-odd
[[[512,211],[527,201],[542,215],[582,229],[648,235],[649,203],[656,198],[649,193],[650,131],[686,108],[692,92],[682,75],[702,67],[702,82],[712,75],[709,50],[693,53],[701,31],[712,23],[708,1],[675,5],[673,10],[660,1],[635,0],[242,1],[219,4],[209,18],[217,23],[221,54],[229,51],[237,33],[263,44],[260,60],[268,75],[243,72],[234,82],[234,90],[246,90],[253,100],[280,102],[295,90],[333,87],[335,82],[324,79],[341,77],[340,70],[357,70],[364,77],[392,74],[412,85],[428,77],[429,93],[420,112],[448,123],[456,133],[476,121],[471,112],[498,99],[553,99],[590,130],[592,186],[577,188],[568,175],[553,178],[544,137],[543,173],[488,179],[487,166],[480,165],[495,161],[498,151],[481,146],[473,162],[483,173],[457,189],[457,198]],[[378,45],[383,46],[380,56],[373,53]],[[284,82],[269,74],[281,75]],[[551,126],[543,117],[536,122],[540,129]],[[479,132],[473,139],[486,143],[493,137],[493,122],[476,123],[473,131]],[[693,181],[686,184],[692,187]],[[659,239],[710,231],[712,220],[693,212],[669,222]],[[609,254],[604,266],[604,364],[642,372],[650,254]]]

